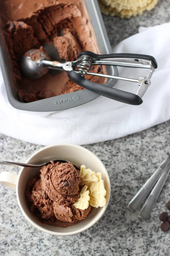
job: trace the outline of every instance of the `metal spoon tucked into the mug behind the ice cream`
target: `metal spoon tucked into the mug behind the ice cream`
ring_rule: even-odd
[[[54,161],[54,163],[59,162],[59,163],[70,163],[70,164],[73,164],[73,163],[71,163],[71,162],[69,162],[69,161],[66,161],[66,160],[57,160],[57,159],[54,159],[54,160],[51,160],[51,161]],[[22,163],[15,163],[15,162],[8,162],[8,161],[2,161],[2,160],[0,160],[0,165],[10,165],[10,166],[42,167],[43,165],[47,165],[47,164],[51,164],[51,162],[49,161],[49,162],[46,162],[46,163],[43,163],[43,164],[22,164]],[[76,169],[79,169],[79,170],[80,170],[80,168],[79,168],[77,165],[75,165],[75,164],[73,164],[73,165],[74,165],[74,167],[75,167]]]

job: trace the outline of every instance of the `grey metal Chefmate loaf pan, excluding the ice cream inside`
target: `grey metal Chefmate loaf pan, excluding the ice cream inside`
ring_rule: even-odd
[[[91,21],[91,25],[94,29],[94,33],[96,35],[96,41],[100,54],[112,53],[112,49],[109,43],[108,35],[104,26],[103,18],[101,16],[97,0],[84,0],[84,4],[87,9],[89,19]],[[8,51],[5,47],[4,38],[2,36],[2,28],[0,28],[0,34],[0,65],[2,69],[2,75],[6,87],[8,100],[10,104],[16,109],[28,111],[64,110],[82,105],[84,103],[87,103],[88,101],[99,97],[98,94],[85,89],[77,92],[67,93],[64,95],[50,97],[39,101],[29,103],[20,102],[17,97],[17,92],[12,89],[15,88],[15,79],[11,72]],[[108,66],[106,67],[106,71],[107,74],[118,76],[117,67]],[[106,85],[113,87],[116,82],[117,80],[110,79],[107,81]]]

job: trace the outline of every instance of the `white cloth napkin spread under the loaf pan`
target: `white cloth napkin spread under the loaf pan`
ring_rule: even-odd
[[[0,74],[0,132],[36,144],[88,144],[122,137],[170,119],[170,23],[147,29],[123,40],[113,52],[148,54],[158,68],[140,106],[105,97],[68,110],[29,112],[13,108]],[[139,78],[141,69],[121,68],[120,76]],[[148,74],[145,69],[145,74]],[[136,92],[138,85],[118,82],[116,88]]]

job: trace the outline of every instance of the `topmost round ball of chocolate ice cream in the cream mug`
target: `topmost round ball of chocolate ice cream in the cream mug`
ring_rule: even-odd
[[[40,170],[42,188],[49,198],[57,203],[74,203],[79,198],[79,170],[65,162],[44,165]]]

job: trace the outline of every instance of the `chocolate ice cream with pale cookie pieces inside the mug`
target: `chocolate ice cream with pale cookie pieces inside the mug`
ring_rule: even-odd
[[[106,205],[101,173],[78,170],[71,163],[45,165],[28,181],[25,195],[30,211],[42,222],[68,227],[87,217],[94,207]],[[72,223],[72,224],[71,224]]]

